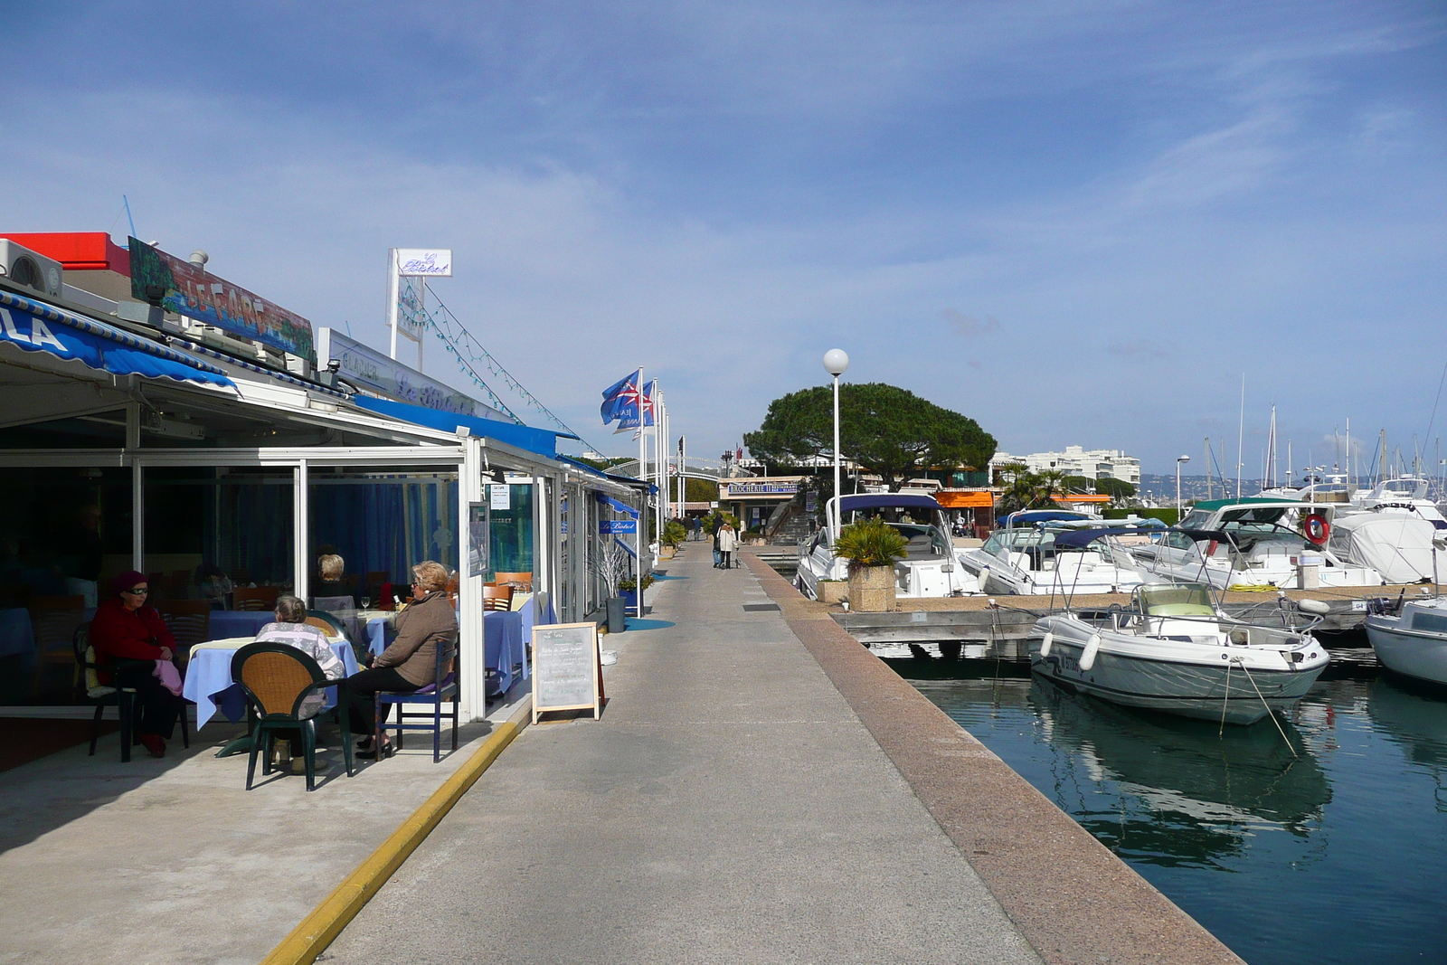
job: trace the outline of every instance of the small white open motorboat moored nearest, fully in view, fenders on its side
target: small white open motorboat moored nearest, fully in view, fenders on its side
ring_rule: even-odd
[[[1136,587],[1132,606],[1036,621],[1030,670],[1061,687],[1130,707],[1255,723],[1288,710],[1328,657],[1311,635],[1318,600],[1279,602],[1269,619],[1224,613],[1208,583]]]

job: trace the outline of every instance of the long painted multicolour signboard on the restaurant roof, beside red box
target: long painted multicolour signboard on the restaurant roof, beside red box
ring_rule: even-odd
[[[317,360],[310,321],[137,239],[130,239],[130,294],[233,336]]]

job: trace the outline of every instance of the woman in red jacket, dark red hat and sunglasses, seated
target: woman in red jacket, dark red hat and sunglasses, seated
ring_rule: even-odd
[[[146,603],[150,587],[145,573],[122,573],[114,580],[116,596],[101,602],[91,619],[90,642],[104,683],[133,687],[140,705],[140,742],[150,757],[164,757],[166,738],[175,732],[182,709],[177,697],[155,676],[158,660],[175,655],[175,637],[156,608]]]

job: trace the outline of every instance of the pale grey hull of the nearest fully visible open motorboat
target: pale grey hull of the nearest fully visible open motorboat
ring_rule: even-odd
[[[1029,647],[1030,670],[1069,690],[1127,707],[1226,723],[1255,723],[1269,712],[1291,709],[1327,666],[1321,661],[1305,670],[1252,667],[1247,673],[1230,661],[1152,660],[1101,647],[1094,666],[1081,670],[1081,642],[1055,637],[1046,657],[1040,657],[1039,639]],[[1215,660],[1214,650],[1210,657]]]

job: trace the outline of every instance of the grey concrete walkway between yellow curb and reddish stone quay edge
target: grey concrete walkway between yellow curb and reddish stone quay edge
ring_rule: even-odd
[[[1039,961],[751,570],[686,544],[653,603],[327,962]]]

